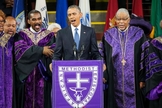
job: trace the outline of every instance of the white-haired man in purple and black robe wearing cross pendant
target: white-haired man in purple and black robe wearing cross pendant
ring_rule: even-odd
[[[145,72],[140,71],[140,62],[149,43],[141,28],[129,25],[125,8],[117,11],[115,21],[116,27],[104,33],[101,44],[108,84],[104,108],[144,108]]]

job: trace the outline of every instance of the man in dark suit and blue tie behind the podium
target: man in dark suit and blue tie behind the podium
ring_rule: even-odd
[[[82,13],[77,5],[67,10],[70,25],[57,33],[54,60],[99,60],[95,31],[80,23]],[[75,30],[77,28],[77,30]],[[75,39],[75,36],[78,36]],[[78,42],[77,42],[77,41]]]

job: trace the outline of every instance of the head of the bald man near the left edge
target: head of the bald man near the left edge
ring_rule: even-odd
[[[16,33],[16,20],[12,16],[8,16],[5,19],[4,33],[14,35]]]

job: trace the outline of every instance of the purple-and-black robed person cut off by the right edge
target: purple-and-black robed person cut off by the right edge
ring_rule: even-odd
[[[162,28],[162,21],[160,22]],[[162,37],[151,40],[146,61],[147,108],[162,108]]]

